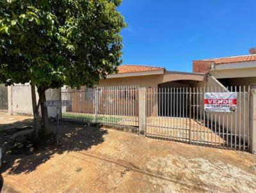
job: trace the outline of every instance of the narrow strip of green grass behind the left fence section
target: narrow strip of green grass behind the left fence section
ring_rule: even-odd
[[[62,118],[68,118],[68,119],[80,119],[80,120],[86,120],[90,122],[97,122],[97,123],[118,123],[119,121],[122,121],[122,118],[120,117],[113,117],[113,116],[95,116],[90,114],[75,114],[74,112],[68,113],[64,112],[62,113]]]

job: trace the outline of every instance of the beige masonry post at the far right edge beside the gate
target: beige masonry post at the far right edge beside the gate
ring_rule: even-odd
[[[256,84],[250,86],[250,152],[256,154]]]

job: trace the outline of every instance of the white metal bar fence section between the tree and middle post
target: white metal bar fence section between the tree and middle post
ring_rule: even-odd
[[[109,86],[61,89],[61,119],[138,127],[138,87]]]

